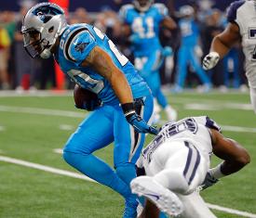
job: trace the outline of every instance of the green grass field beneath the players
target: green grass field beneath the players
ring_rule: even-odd
[[[249,94],[184,93],[168,96],[168,101],[178,110],[179,118],[209,115],[222,126],[224,135],[249,150],[251,162],[245,169],[222,178],[201,194],[210,204],[236,210],[213,210],[220,218],[256,217],[256,115]],[[123,199],[111,189],[30,164],[78,174],[54,150],[63,147],[87,114],[74,109],[71,93],[0,94],[0,218],[122,217]],[[148,136],[147,142],[150,140]],[[113,145],[96,155],[113,165]],[[213,165],[219,161],[213,159]]]

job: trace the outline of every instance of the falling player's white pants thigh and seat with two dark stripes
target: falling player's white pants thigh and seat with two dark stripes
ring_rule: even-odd
[[[169,190],[187,195],[202,184],[208,169],[209,159],[194,146],[168,141],[155,150],[146,173]]]

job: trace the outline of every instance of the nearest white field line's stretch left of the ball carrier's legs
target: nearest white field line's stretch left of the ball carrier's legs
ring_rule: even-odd
[[[94,181],[94,180],[88,178],[88,176],[80,174],[80,173],[73,173],[73,172],[69,172],[69,171],[64,171],[64,170],[60,170],[60,169],[57,169],[57,168],[48,167],[48,166],[45,166],[45,165],[41,165],[41,164],[38,164],[38,163],[33,163],[33,162],[25,161],[25,160],[18,160],[18,159],[8,158],[8,157],[5,157],[5,156],[0,156],[0,161],[10,162],[10,163],[18,164],[18,165],[21,165],[21,166],[34,168],[34,169],[37,169],[37,170],[46,171],[46,172],[49,172],[49,173],[66,175],[66,176],[69,176],[69,177],[73,177],[73,178],[77,178],[77,179],[83,179],[83,180],[87,180],[89,182],[96,183],[96,181]]]

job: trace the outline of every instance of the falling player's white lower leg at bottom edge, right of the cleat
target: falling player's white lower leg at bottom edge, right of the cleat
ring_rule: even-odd
[[[181,218],[217,218],[199,195],[198,192],[193,192],[190,195],[179,195],[182,200],[184,211],[181,214]]]

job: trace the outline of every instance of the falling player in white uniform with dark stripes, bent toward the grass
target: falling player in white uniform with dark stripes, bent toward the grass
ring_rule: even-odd
[[[212,153],[223,161],[209,169]],[[144,168],[146,176],[133,179],[130,186],[133,193],[150,199],[169,215],[213,218],[216,216],[195,191],[196,187],[212,186],[248,163],[247,150],[224,137],[216,122],[207,116],[190,117],[168,122],[161,128],[142,150],[138,161],[138,167]],[[149,210],[151,206],[146,208]],[[155,216],[148,213],[144,210],[141,217],[158,217],[157,212]]]

